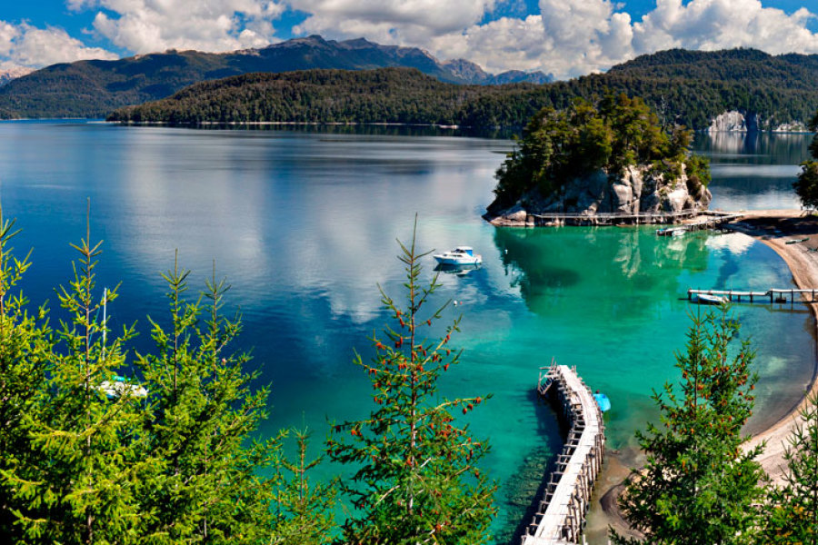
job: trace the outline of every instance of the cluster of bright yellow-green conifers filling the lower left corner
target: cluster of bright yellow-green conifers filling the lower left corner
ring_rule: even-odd
[[[175,266],[165,274],[169,326],[151,322],[158,352],[138,355],[134,368],[125,360],[133,328],[112,336],[99,317],[117,292],[99,297],[100,244],[89,243],[90,223],[74,245],[74,278],[57,292],[67,319],[56,334],[45,322],[45,308],[30,316],[15,292],[29,263],[11,253],[14,223],[0,218],[0,225],[5,540],[285,542],[275,525],[286,520],[274,520],[271,510],[279,441],[252,439],[265,416],[267,391],[251,391],[256,375],[243,371],[246,355],[230,351],[241,328],[237,319],[222,316],[224,281],[207,282],[205,303],[186,302],[188,272]],[[115,381],[115,373],[133,371],[142,373],[146,397],[134,380]],[[299,516],[313,507],[301,505]],[[323,511],[315,517],[331,520]]]

